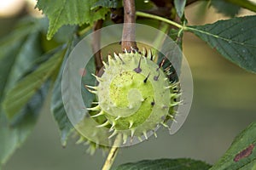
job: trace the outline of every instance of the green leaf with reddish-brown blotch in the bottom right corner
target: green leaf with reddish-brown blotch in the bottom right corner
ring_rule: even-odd
[[[243,130],[211,170],[254,170],[256,167],[256,122]]]

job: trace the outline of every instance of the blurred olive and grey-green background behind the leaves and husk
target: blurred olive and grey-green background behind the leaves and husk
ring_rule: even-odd
[[[8,9],[4,2],[15,3]],[[0,0],[0,36],[8,34],[22,14],[28,12],[38,16],[38,12],[33,12],[34,3]],[[206,3],[195,3],[186,9],[189,25],[226,19],[213,8],[204,11],[204,5]],[[247,14],[253,13],[242,10],[239,15]],[[157,139],[151,137],[141,144],[122,148],[114,166],[128,161],[179,157],[214,163],[236,135],[256,120],[256,75],[230,63],[190,33],[184,35],[183,52],[194,80],[193,104],[183,127],[172,136],[160,129]],[[50,94],[32,135],[3,170],[100,169],[107,156],[102,150],[90,156],[85,152],[87,146],[75,144],[72,138],[65,149],[61,147],[49,101]]]

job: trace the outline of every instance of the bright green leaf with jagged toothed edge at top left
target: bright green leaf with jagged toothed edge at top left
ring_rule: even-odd
[[[47,39],[51,39],[63,25],[91,25],[96,20],[105,19],[108,8],[90,10],[95,3],[96,0],[38,0],[36,7],[49,18]]]

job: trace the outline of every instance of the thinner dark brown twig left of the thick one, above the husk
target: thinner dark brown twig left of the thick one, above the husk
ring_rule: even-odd
[[[95,59],[95,65],[96,65],[96,75],[103,66],[101,50],[98,50],[100,48],[100,42],[101,42],[101,31],[97,31],[102,28],[102,23],[103,23],[103,20],[97,20],[93,27],[94,34],[92,36],[92,50],[94,53],[94,59]]]

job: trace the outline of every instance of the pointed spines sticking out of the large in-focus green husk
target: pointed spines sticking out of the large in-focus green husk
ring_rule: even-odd
[[[125,50],[125,54],[127,54],[127,53],[128,52]],[[146,50],[145,48],[143,48],[142,52],[137,52],[135,50],[131,50],[131,53],[133,53],[133,54],[136,54],[136,53],[141,54],[141,57],[140,57],[139,62],[138,62],[138,65],[133,70],[133,71],[136,71],[137,73],[140,73],[142,71],[142,68],[141,68],[141,60],[142,59],[145,59],[147,61],[147,58],[148,58],[148,59],[154,61],[154,55],[152,54],[151,50]],[[122,64],[125,64],[124,60],[121,58],[121,56],[119,54],[113,53],[113,56],[114,56],[114,60],[115,61],[113,60],[113,57],[111,55],[108,55],[108,64],[103,61],[103,65],[104,65],[105,69],[108,68],[109,66],[115,65],[114,62],[117,62],[117,61],[121,62]],[[164,58],[164,59],[162,59],[160,61],[159,67],[156,69],[156,71],[159,71],[162,68],[162,66],[164,65],[165,61],[166,61],[166,58]],[[174,106],[179,105],[181,103],[181,101],[177,101],[177,98],[180,96],[180,92],[178,90],[179,89],[178,82],[170,82],[169,76],[172,75],[172,74],[175,74],[175,73],[173,73],[171,71],[171,67],[172,67],[172,65],[169,65],[168,67],[166,67],[164,69],[164,72],[166,74],[165,81],[168,81],[169,84],[170,84],[170,86],[167,86],[167,87],[164,87],[164,88],[166,88],[166,89],[169,88],[172,91],[171,99],[173,100],[173,102],[170,103],[169,107],[166,106],[166,105],[163,105],[162,106],[163,109],[165,109],[165,108],[173,108]],[[96,75],[93,75],[93,76],[96,77],[96,80],[98,82],[102,82],[102,78],[101,77],[97,77]],[[143,82],[146,83],[149,76],[150,76],[150,72],[148,73],[148,76],[144,79]],[[154,81],[158,81],[159,77],[160,77],[160,73],[158,75],[154,76]],[[92,87],[92,86],[88,86],[88,85],[85,85],[85,87],[88,89],[88,91],[90,91],[90,93],[97,94],[97,87]],[[104,113],[104,111],[101,110],[99,103],[96,102],[95,104],[96,104],[95,107],[87,108],[87,110],[88,111],[99,111],[99,113],[97,113],[96,115],[90,116],[90,117],[91,118],[95,118],[97,116],[104,116],[105,113]],[[154,99],[151,102],[151,105],[154,105]],[[172,112],[169,112],[169,114],[166,117],[164,117],[163,119],[164,120],[172,119],[173,121],[175,121],[174,116],[173,116],[175,113],[176,112],[173,110]],[[117,116],[115,118],[115,121],[117,121],[119,118],[120,118],[120,116]],[[129,130],[131,130],[131,136],[130,137],[132,139],[134,137],[134,133],[135,133],[136,128],[132,127],[134,122],[131,121],[129,123],[130,123]],[[166,121],[161,122],[160,124],[162,126],[164,126],[164,127],[169,128],[169,126],[166,124]],[[108,139],[111,139],[113,136],[115,136],[117,133],[119,133],[118,132],[119,130],[116,130],[114,128],[115,127],[115,122],[109,122],[109,120],[106,118],[105,122],[103,122],[102,124],[100,124],[100,125],[98,125],[96,127],[106,127],[108,125],[111,125],[111,127],[109,127],[109,132],[113,132],[108,137]],[[158,127],[158,126],[159,125],[157,124],[156,127]],[[148,129],[147,130],[145,129],[143,131],[143,133],[142,133],[142,135],[144,136],[145,139],[148,139],[147,132],[148,132]],[[152,133],[154,133],[154,136],[156,137],[156,133],[154,132],[154,130],[152,130]],[[123,133],[123,142],[124,142],[124,144],[126,143],[127,139],[128,139],[128,135],[126,133]],[[137,136],[137,139],[142,140],[141,136]]]

